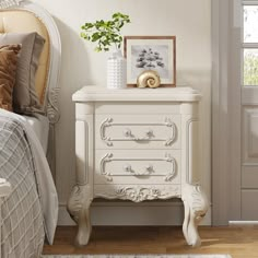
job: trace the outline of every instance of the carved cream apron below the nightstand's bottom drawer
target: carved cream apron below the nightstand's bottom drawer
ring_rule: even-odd
[[[94,185],[94,198],[121,199],[134,202],[180,198],[180,185]]]

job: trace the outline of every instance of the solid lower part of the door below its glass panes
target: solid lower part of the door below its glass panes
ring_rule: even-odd
[[[249,91],[243,90],[243,92]],[[248,104],[242,107],[241,219],[244,221],[258,220],[258,209],[254,206],[258,197],[258,106],[256,102],[251,105],[258,92],[253,91],[253,93],[254,96],[245,94],[245,102]]]

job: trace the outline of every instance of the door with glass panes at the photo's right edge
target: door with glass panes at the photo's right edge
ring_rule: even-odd
[[[241,220],[258,221],[258,1],[242,1]]]

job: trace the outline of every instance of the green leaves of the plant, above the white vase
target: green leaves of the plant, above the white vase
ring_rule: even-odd
[[[108,51],[113,45],[119,49],[122,42],[120,31],[127,23],[130,23],[129,15],[117,12],[113,14],[109,21],[101,20],[82,25],[81,37],[89,42],[97,43],[96,51]]]

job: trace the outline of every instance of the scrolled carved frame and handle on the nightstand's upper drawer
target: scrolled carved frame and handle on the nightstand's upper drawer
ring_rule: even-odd
[[[120,137],[110,137],[107,133],[107,128],[119,127],[122,131],[119,133]],[[160,137],[159,130],[162,127],[168,128],[167,137]],[[139,132],[140,131],[140,132]],[[149,141],[161,141],[164,142],[165,146],[171,146],[177,138],[177,126],[168,117],[165,117],[164,122],[115,122],[112,117],[106,118],[99,127],[99,134],[102,141],[107,146],[113,146],[116,141],[134,141],[138,143]]]

